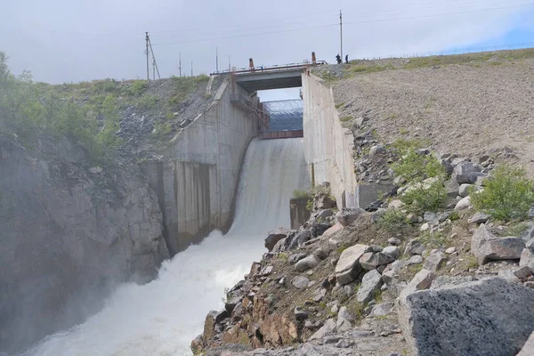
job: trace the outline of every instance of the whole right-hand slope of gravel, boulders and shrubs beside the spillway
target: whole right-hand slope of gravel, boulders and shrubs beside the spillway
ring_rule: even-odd
[[[392,190],[340,212],[316,196],[299,231],[272,231],[193,352],[530,354],[534,182],[499,172],[532,171],[532,54],[320,69],[359,181]]]

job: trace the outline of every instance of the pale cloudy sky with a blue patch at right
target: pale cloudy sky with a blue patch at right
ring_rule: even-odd
[[[534,46],[534,0],[0,0],[0,51],[13,73],[58,84],[146,77],[145,31],[161,77],[219,69]],[[151,75],[150,68],[150,75]],[[288,93],[291,93],[289,95]],[[298,92],[281,94],[281,99]],[[267,95],[276,97],[277,95]]]

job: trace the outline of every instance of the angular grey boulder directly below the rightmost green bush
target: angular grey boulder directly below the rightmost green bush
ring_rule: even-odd
[[[523,248],[525,248],[525,242],[522,239],[496,237],[483,223],[471,239],[471,253],[475,255],[480,265],[491,260],[519,260]]]

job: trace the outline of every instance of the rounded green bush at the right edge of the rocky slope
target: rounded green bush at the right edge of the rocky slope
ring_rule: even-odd
[[[534,181],[522,168],[498,166],[484,183],[484,190],[471,194],[475,209],[503,221],[528,217],[534,205]]]

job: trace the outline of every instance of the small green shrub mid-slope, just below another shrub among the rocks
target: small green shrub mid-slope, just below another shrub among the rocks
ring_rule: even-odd
[[[401,195],[401,201],[417,214],[435,212],[447,202],[447,190],[440,181],[418,182]]]

